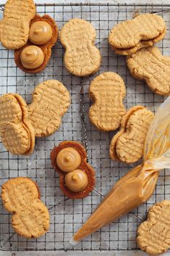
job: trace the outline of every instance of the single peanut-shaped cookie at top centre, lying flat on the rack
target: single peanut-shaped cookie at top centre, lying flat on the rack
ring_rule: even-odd
[[[95,47],[95,37],[93,25],[86,20],[69,20],[61,29],[60,41],[66,49],[64,65],[73,75],[91,75],[101,66],[101,53]]]

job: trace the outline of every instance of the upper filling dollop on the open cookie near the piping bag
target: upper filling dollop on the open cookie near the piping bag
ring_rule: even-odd
[[[81,162],[82,160],[79,152],[72,147],[61,149],[56,157],[56,164],[66,173],[77,169]]]

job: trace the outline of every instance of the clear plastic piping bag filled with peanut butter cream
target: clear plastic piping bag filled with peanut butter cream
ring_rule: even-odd
[[[69,241],[72,245],[147,201],[158,170],[170,168],[170,96],[158,107],[145,139],[143,164],[123,176]]]

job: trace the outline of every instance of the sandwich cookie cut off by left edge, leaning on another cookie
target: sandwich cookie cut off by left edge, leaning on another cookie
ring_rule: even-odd
[[[12,154],[31,154],[35,133],[28,121],[27,104],[18,94],[0,97],[1,141]]]

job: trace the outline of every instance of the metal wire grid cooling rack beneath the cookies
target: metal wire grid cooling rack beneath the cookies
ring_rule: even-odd
[[[3,6],[0,9],[3,10]],[[125,57],[118,56],[111,51],[107,41],[109,30],[117,22],[132,18],[137,11],[155,12],[163,17],[166,21],[167,33],[158,46],[163,54],[170,55],[170,5],[38,4],[37,6],[39,14],[46,13],[54,17],[59,29],[73,17],[92,22],[97,33],[96,46],[103,56],[98,73],[110,70],[122,76],[127,85],[127,96],[124,101],[127,108],[142,104],[156,111],[158,105],[163,102],[163,96],[153,94],[143,81],[132,78],[128,73]],[[0,15],[2,16],[2,12]],[[63,56],[64,49],[58,42],[53,49],[51,61],[46,70],[38,75],[29,75],[15,66],[13,51],[7,51],[3,47],[0,49],[0,94],[17,92],[29,103],[35,86],[43,80],[54,78],[67,86],[72,97],[72,104],[67,114],[64,115],[59,130],[48,138],[37,139],[32,155],[13,156],[0,144],[0,183],[17,176],[33,178],[41,189],[41,199],[47,205],[51,215],[48,233],[39,239],[27,240],[14,234],[11,215],[0,205],[0,249],[4,251],[137,250],[137,226],[141,220],[145,219],[148,208],[153,203],[170,197],[169,170],[161,171],[156,191],[146,204],[102,228],[101,231],[95,232],[76,247],[69,244],[69,239],[101,202],[103,195],[133,165],[113,162],[109,158],[109,143],[114,133],[97,131],[88,120],[88,110],[91,104],[88,86],[93,76],[77,78],[70,75],[64,68]],[[63,140],[82,141],[88,149],[88,160],[96,170],[95,189],[85,199],[67,199],[59,189],[59,176],[51,167],[50,152],[54,145]]]

